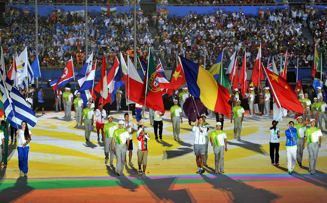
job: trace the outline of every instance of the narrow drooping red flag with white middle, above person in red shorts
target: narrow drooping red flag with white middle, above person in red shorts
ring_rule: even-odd
[[[101,79],[94,90],[100,94],[99,104],[104,106],[105,104],[110,103],[110,98],[108,96],[107,64],[104,53],[102,55]]]

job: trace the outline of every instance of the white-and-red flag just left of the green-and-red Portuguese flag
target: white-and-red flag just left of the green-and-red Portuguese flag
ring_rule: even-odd
[[[123,55],[121,54],[121,59]],[[124,60],[124,58],[123,58]],[[125,62],[124,62],[125,63]],[[123,67],[123,65],[122,65]],[[130,60],[129,56],[127,56],[127,72],[128,75],[125,77],[125,91],[126,91],[126,97],[128,104],[132,103],[138,103],[139,98],[141,95],[145,94],[145,91],[143,91],[143,81],[141,77],[139,77],[139,74],[137,73],[137,70],[134,67],[134,64]],[[124,68],[123,68],[123,74]]]

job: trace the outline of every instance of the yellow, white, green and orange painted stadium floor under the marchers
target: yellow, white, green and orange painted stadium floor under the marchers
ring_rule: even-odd
[[[123,113],[112,112],[114,122],[122,119]],[[125,176],[116,176],[114,168],[104,163],[104,145],[96,141],[96,132],[86,143],[83,127],[77,128],[74,119],[62,117],[63,112],[38,117],[37,127],[32,130],[28,178],[18,177],[17,151],[14,145],[9,146],[8,168],[0,172],[0,202],[321,202],[327,197],[326,139],[323,137],[319,149],[317,175],[308,173],[307,149],[303,167],[296,165],[294,175],[288,175],[284,133],[279,151],[281,166],[270,164],[271,117],[246,117],[241,141],[233,139],[233,125],[226,120],[225,174],[213,173],[214,154],[209,146],[209,167],[198,175],[192,128],[184,122],[181,141],[174,141],[167,113],[164,140],[151,139],[149,143],[147,176],[136,171],[136,139],[132,159],[135,168],[125,166]],[[215,125],[214,119],[207,121]],[[148,121],[146,126],[153,138]],[[279,123],[279,128],[285,131],[285,122]]]

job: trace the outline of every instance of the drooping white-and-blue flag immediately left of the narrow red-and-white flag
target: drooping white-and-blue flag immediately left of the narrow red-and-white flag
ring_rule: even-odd
[[[94,85],[94,78],[96,75],[96,67],[97,67],[97,60],[92,66],[91,70],[86,73],[84,83],[79,90],[84,105],[87,104],[88,99],[91,98],[92,94],[94,94],[92,90]]]

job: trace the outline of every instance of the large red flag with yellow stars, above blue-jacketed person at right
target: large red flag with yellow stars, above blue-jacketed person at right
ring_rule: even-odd
[[[263,69],[267,75],[267,81],[277,107],[302,113],[303,106],[290,84],[283,77],[267,70],[267,68],[264,67]]]

